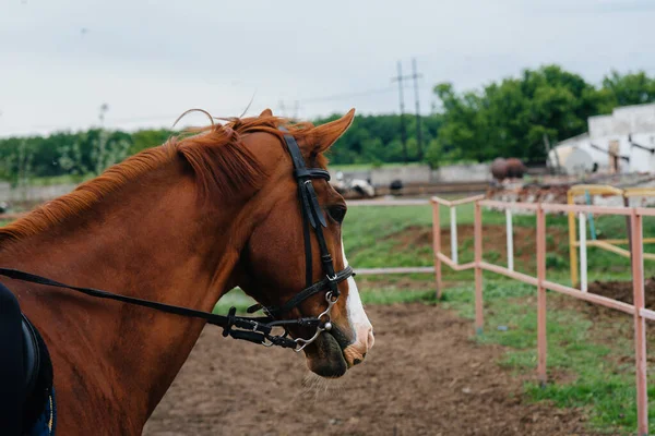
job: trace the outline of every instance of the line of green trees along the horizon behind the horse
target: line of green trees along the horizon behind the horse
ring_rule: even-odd
[[[406,154],[409,161],[433,167],[499,156],[543,162],[545,138],[555,144],[585,132],[591,116],[655,101],[655,77],[641,71],[612,71],[594,85],[558,65],[545,65],[472,90],[437,84],[433,94],[437,104],[429,116],[420,118],[421,144],[413,114],[405,114],[403,121],[398,114],[357,116],[331,150],[331,161],[381,165],[404,161]],[[0,178],[15,182],[28,175],[97,174],[131,154],[164,143],[170,134],[166,130],[130,133],[92,129],[2,138]]]

